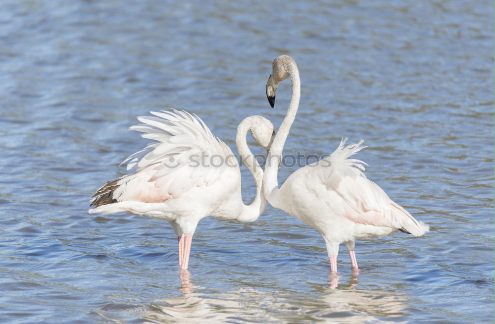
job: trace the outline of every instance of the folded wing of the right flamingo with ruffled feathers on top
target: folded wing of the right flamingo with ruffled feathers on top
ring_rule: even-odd
[[[339,147],[327,158],[318,162],[314,172],[325,184],[327,205],[335,214],[360,223],[388,226],[419,236],[428,226],[417,221],[364,173],[366,164],[360,160],[348,159],[366,146],[363,141],[345,146],[343,139]]]

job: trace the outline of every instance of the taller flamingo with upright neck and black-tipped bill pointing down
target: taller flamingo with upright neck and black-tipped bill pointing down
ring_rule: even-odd
[[[296,62],[290,56],[278,56],[272,67],[266,84],[270,105],[274,106],[275,92],[284,79],[292,80],[292,97],[268,154],[263,177],[265,196],[273,207],[299,218],[323,234],[331,272],[337,272],[340,243],[346,245],[352,269],[357,272],[356,238],[384,236],[397,229],[415,236],[428,231],[428,225],[414,219],[382,188],[366,178],[362,172],[364,162],[348,159],[364,148],[362,141],[345,146],[346,139],[342,140],[329,157],[298,169],[279,188],[278,166],[299,106],[300,80]]]

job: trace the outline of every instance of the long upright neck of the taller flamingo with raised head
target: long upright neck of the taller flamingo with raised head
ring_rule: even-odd
[[[280,125],[277,135],[273,139],[273,143],[268,153],[268,159],[265,166],[265,172],[263,177],[263,187],[264,194],[268,199],[268,202],[273,207],[278,207],[278,167],[282,161],[282,151],[284,150],[285,141],[287,136],[289,136],[289,130],[291,129],[292,123],[296,118],[297,108],[299,107],[299,99],[301,94],[301,82],[299,79],[299,71],[295,62],[288,65],[288,74],[292,81],[292,96],[291,103],[289,104],[289,109],[287,114]]]

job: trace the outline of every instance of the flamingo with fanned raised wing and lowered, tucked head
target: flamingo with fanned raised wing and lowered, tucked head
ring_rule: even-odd
[[[239,154],[256,183],[256,197],[245,205],[241,170],[230,148],[213,136],[204,122],[186,111],[151,112],[130,129],[154,140],[122,163],[128,174],[105,183],[92,197],[89,213],[126,212],[168,220],[179,241],[179,267],[188,268],[193,233],[201,218],[214,216],[253,221],[266,208],[261,192],[263,170],[247,146],[247,131],[266,150],[274,135],[261,116],[244,119],[237,128]]]

